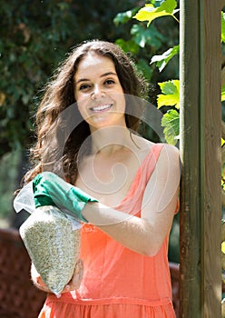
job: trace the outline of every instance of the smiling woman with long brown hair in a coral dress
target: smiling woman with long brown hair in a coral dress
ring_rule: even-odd
[[[48,293],[40,318],[175,317],[167,249],[179,154],[134,134],[143,87],[128,56],[98,40],[76,47],[48,84],[37,112],[36,164],[26,182],[44,170],[62,174],[62,164],[64,179],[98,202],[82,211],[83,266],[60,298]],[[75,115],[66,118],[73,131],[56,164],[55,126],[71,105]],[[46,290],[38,273],[32,277]]]

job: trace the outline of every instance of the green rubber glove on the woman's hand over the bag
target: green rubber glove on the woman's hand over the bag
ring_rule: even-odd
[[[78,187],[68,184],[57,174],[50,172],[35,176],[33,190],[35,207],[54,205],[84,223],[88,221],[82,215],[83,207],[88,202],[98,202]]]

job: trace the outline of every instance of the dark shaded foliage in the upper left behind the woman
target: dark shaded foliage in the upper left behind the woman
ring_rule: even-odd
[[[66,52],[90,38],[114,41],[112,18],[135,0],[83,3],[73,0],[0,0],[0,157],[33,143],[41,89]],[[95,3],[96,4],[96,3]]]

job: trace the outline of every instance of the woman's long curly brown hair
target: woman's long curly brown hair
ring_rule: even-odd
[[[79,63],[89,52],[112,59],[126,98],[127,96],[144,97],[146,94],[146,83],[142,75],[137,72],[132,59],[118,45],[91,40],[74,47],[46,85],[44,97],[38,107],[37,142],[31,149],[33,167],[24,176],[25,184],[44,170],[61,174],[71,184],[75,183],[78,153],[91,133],[89,125],[83,121],[77,107],[74,107],[76,101],[73,78]],[[140,104],[137,106],[130,98],[129,101],[126,100],[126,111],[127,127],[137,131],[142,107]],[[85,154],[88,154],[88,150],[84,150],[83,155]]]

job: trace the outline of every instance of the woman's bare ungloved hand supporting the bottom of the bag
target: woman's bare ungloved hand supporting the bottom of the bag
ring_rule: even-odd
[[[32,267],[31,267],[31,276],[32,276],[32,280],[34,282],[34,285],[38,289],[40,289],[41,291],[43,291],[45,293],[53,293],[46,286],[41,275],[39,273],[37,273],[37,271],[34,267],[34,263],[32,263]],[[72,277],[71,281],[64,286],[64,290],[62,291],[62,293],[68,293],[68,292],[71,292],[71,291],[78,289],[80,287],[80,284],[82,283],[82,279],[83,279],[83,261],[81,259],[79,259],[77,261],[77,263],[75,264],[73,277]]]

